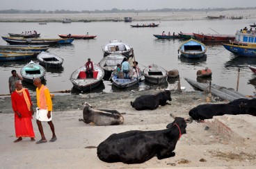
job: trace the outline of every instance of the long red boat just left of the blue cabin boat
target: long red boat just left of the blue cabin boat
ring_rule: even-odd
[[[230,42],[234,41],[235,36],[233,35],[211,35],[211,34],[198,34],[193,33],[194,37],[201,42]]]

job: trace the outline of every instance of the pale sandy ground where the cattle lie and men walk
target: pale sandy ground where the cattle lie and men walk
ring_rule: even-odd
[[[129,130],[162,130],[173,121],[170,116],[189,117],[191,108],[205,103],[207,94],[201,91],[177,93],[172,91],[170,105],[149,111],[136,111],[130,101],[143,94],[156,94],[159,90],[129,91],[113,94],[83,94],[55,96],[54,125],[58,140],[54,143],[35,145],[29,139],[19,143],[15,140],[13,112],[10,97],[0,98],[0,167],[1,168],[255,168],[256,167],[256,118],[253,116],[228,116],[231,129],[246,129],[245,135],[227,136],[216,132],[210,123],[189,123],[187,134],[178,141],[175,157],[158,160],[157,157],[141,164],[104,163],[97,158],[97,145],[110,134]],[[35,96],[32,95],[33,103]],[[79,121],[82,118],[82,103],[90,103],[95,109],[117,109],[125,123],[116,126],[95,126]],[[241,119],[244,124],[241,124]],[[250,119],[250,120],[246,120]],[[250,123],[249,123],[250,121]],[[36,140],[40,139],[33,119]],[[209,130],[205,130],[208,126]],[[44,124],[49,140],[51,131]],[[232,134],[234,135],[234,134]]]

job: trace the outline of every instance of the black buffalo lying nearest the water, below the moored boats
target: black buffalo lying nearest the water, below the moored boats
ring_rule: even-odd
[[[170,97],[170,91],[161,91],[155,95],[143,95],[139,96],[131,102],[131,107],[134,107],[136,110],[143,110],[143,109],[157,109],[159,105],[166,105],[166,101],[171,101],[172,98]]]

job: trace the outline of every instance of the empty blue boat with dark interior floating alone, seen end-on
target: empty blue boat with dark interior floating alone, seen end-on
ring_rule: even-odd
[[[207,46],[195,39],[189,39],[179,46],[178,53],[179,51],[184,57],[200,58],[205,55]]]

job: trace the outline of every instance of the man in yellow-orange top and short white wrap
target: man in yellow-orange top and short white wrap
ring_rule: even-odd
[[[47,139],[45,139],[45,134],[42,129],[42,121],[47,121],[51,128],[52,137],[49,142],[54,142],[57,140],[57,137],[55,135],[54,131],[54,123],[51,121],[51,111],[52,111],[52,102],[51,102],[51,96],[49,89],[42,84],[40,78],[35,78],[33,84],[36,88],[36,100],[37,100],[37,111],[36,111],[36,123],[38,124],[38,130],[41,134],[42,139],[40,141],[37,141],[36,144],[39,143],[46,143]]]

